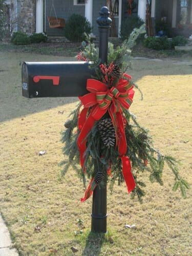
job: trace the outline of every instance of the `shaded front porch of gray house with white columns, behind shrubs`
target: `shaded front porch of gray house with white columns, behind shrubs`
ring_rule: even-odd
[[[133,2],[133,1],[132,1]],[[85,16],[93,27],[93,34],[98,36],[96,19],[102,6],[111,5],[111,14],[115,25],[115,36],[120,36],[121,22],[129,15],[138,15],[145,20],[147,0],[134,0],[134,8],[129,12],[129,0],[36,0],[36,33],[45,32],[48,36],[63,36],[63,30],[50,28],[48,16],[56,14],[66,21],[73,14]],[[155,3],[155,0],[152,0]],[[54,8],[52,8],[52,6]],[[155,5],[153,5],[155,8]],[[52,12],[51,12],[52,10]],[[54,11],[55,10],[55,11]],[[114,36],[114,35],[113,35]]]

